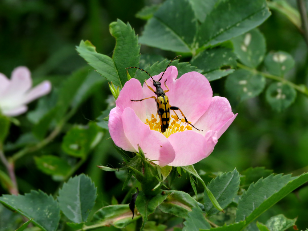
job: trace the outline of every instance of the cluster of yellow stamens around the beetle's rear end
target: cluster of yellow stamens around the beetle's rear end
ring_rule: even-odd
[[[176,115],[171,115],[170,122],[171,123],[169,124],[169,127],[166,129],[166,131],[164,133],[162,133],[167,138],[171,134],[173,134],[173,133],[184,132],[185,130],[192,130],[193,129],[189,125],[184,126],[185,125],[185,120],[184,119],[179,120],[179,118],[177,118]],[[181,125],[182,123],[184,125]],[[149,125],[151,130],[155,130],[157,132],[161,132],[161,126],[160,126],[159,118],[157,120],[157,113],[156,113],[156,116],[154,116],[152,114],[151,120],[146,119],[146,123],[145,124]]]

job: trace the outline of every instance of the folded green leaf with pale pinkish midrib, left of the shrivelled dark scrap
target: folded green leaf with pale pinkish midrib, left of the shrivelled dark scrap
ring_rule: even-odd
[[[99,209],[94,214],[92,222],[99,225],[98,227],[114,225],[121,229],[140,218],[140,215],[136,215],[134,219],[132,216],[128,205],[109,205]]]

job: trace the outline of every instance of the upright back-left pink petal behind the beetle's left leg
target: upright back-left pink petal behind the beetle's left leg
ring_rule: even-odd
[[[118,99],[115,101],[115,104],[119,109],[123,112],[125,108],[130,107],[132,108],[138,118],[145,122],[146,114],[145,114],[145,104],[144,102],[147,100],[153,99],[146,99],[141,102],[132,102],[133,100],[144,99],[143,91],[139,80],[137,79],[130,79],[124,84],[124,87],[120,91],[120,95]],[[153,100],[154,101],[154,100]],[[138,149],[137,149],[138,150]]]

